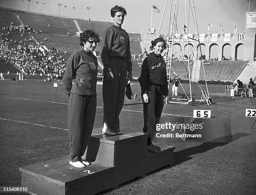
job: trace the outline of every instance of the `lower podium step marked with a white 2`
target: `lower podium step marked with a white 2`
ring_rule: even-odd
[[[115,167],[92,163],[69,165],[69,156],[20,167],[21,186],[37,195],[95,194],[116,186]]]

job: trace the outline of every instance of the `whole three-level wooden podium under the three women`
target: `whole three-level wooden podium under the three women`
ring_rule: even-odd
[[[175,147],[148,152],[147,137],[142,132],[92,135],[82,157],[90,165],[73,167],[65,156],[20,167],[21,186],[37,195],[95,194],[172,165]]]

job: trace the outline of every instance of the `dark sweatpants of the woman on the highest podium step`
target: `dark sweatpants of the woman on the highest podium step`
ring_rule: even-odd
[[[110,67],[114,75],[113,83],[107,81],[104,70],[102,97],[103,97],[103,123],[111,132],[120,132],[119,115],[123,108],[125,84],[127,78],[127,63],[123,60],[110,59]]]

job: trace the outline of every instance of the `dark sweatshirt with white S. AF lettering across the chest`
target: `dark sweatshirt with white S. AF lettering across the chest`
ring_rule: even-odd
[[[166,64],[162,56],[153,52],[144,59],[139,82],[142,94],[148,94],[148,83],[151,83],[164,86],[164,96],[168,95]]]

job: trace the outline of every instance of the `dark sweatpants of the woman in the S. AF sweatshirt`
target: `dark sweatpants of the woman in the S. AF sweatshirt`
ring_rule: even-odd
[[[143,94],[141,94],[143,99]],[[144,127],[143,132],[149,133],[148,145],[153,142],[156,124],[159,123],[164,107],[164,86],[148,83],[149,103],[143,101]]]

